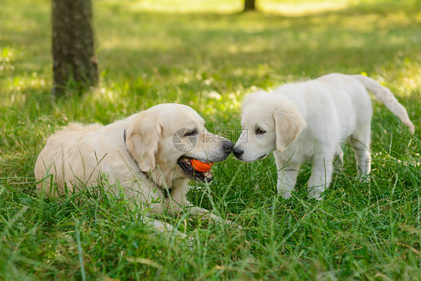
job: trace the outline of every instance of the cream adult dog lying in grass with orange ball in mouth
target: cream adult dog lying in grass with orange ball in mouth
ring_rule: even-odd
[[[154,213],[189,207],[204,215],[207,210],[187,201],[188,182],[210,182],[212,175],[195,170],[190,159],[223,161],[233,147],[231,141],[208,132],[190,107],[161,104],[107,126],[70,124],[47,139],[35,164],[35,178],[41,181],[37,188],[50,196],[103,182],[110,192],[122,190],[126,199]],[[171,229],[160,221],[151,223]]]

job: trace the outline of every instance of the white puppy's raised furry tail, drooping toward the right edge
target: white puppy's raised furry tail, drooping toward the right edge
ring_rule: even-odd
[[[415,126],[411,122],[411,120],[408,117],[408,113],[406,112],[406,109],[401,105],[396,97],[393,95],[392,92],[390,92],[389,89],[386,87],[383,87],[376,81],[374,81],[372,78],[364,76],[364,75],[352,75],[355,77],[359,82],[361,82],[364,87],[373,93],[379,101],[384,103],[384,105],[399,119],[402,121],[402,123],[409,128],[409,131],[411,134],[415,133]]]

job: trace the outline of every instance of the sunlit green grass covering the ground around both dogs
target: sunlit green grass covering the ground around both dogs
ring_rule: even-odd
[[[94,1],[100,86],[53,102],[49,1],[2,1],[0,280],[420,279],[420,1],[258,0],[265,12],[245,14],[241,1],[210,2]],[[321,202],[306,199],[308,164],[284,200],[272,156],[231,156],[189,197],[243,229],[162,218],[192,241],[154,232],[107,194],[74,204],[35,191],[36,157],[70,121],[107,124],[178,102],[208,128],[233,129],[244,94],[330,72],[366,72],[416,126],[410,136],[374,102],[369,183],[358,182],[347,145],[344,171]]]

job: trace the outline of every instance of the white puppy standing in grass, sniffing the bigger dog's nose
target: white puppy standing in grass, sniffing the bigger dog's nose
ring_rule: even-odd
[[[243,134],[234,155],[244,162],[274,151],[278,169],[277,189],[284,198],[297,181],[300,164],[312,162],[307,183],[309,196],[321,199],[332,177],[333,161],[343,163],[341,143],[349,140],[357,169],[370,173],[370,91],[414,133],[405,108],[389,89],[363,75],[333,73],[312,81],[285,84],[273,93],[259,91],[243,102]]]

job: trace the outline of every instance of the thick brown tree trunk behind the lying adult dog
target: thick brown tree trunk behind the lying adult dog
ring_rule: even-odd
[[[98,83],[91,0],[52,0],[52,95],[74,82],[79,93]]]

